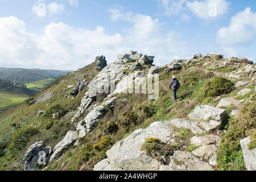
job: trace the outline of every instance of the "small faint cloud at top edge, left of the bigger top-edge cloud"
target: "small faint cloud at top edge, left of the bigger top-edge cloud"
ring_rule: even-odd
[[[184,3],[188,0],[156,0],[161,2],[160,7],[163,9],[163,14],[171,16],[180,13],[184,9]]]

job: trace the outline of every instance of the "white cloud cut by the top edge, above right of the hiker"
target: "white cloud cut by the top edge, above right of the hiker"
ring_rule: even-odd
[[[186,6],[201,19],[210,19],[228,13],[230,2],[226,0],[203,0],[187,2]]]

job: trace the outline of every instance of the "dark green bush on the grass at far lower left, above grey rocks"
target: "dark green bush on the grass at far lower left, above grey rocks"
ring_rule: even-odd
[[[14,154],[16,151],[22,150],[24,147],[26,147],[30,138],[39,132],[40,131],[38,128],[28,126],[18,131],[16,134],[14,134],[13,140],[9,146],[11,153]]]

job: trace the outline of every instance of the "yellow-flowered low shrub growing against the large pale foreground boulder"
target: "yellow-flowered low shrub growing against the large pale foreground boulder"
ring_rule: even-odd
[[[161,164],[168,165],[170,163],[170,156],[174,154],[175,150],[179,147],[176,144],[168,144],[161,142],[159,138],[151,137],[147,138],[141,146],[141,150],[146,154],[151,154]],[[162,158],[164,156],[164,158]]]

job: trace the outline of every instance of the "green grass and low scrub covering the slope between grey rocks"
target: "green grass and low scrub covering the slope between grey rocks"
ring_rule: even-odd
[[[71,98],[65,99],[65,92],[62,92],[62,90],[67,87],[67,85],[75,84],[77,78],[82,77],[85,73],[90,73],[93,71],[93,68],[93,65],[89,65],[88,67],[85,67],[77,72],[77,75],[71,74],[65,78],[62,78],[55,85],[51,86],[51,88],[45,90],[43,93],[48,92],[49,90],[55,90],[51,100],[47,102],[37,103],[31,106],[22,104],[8,110],[7,113],[5,112],[0,114],[0,142],[1,140],[6,140],[10,143],[13,134],[27,125],[36,126],[40,129],[40,133],[35,137],[32,137],[27,143],[27,146],[23,146],[23,150],[21,150],[18,155],[12,157],[7,150],[6,154],[0,157],[0,169],[23,170],[23,164],[20,164],[18,167],[14,168],[11,166],[11,163],[19,162],[26,152],[26,148],[28,146],[36,141],[43,140],[46,146],[53,147],[61,140],[62,137],[64,137],[65,133],[72,128],[69,124],[69,119],[72,117],[72,115],[70,115],[68,118],[59,119],[59,122],[54,123],[51,129],[46,130],[44,126],[48,121],[40,120],[38,117],[36,117],[36,114],[39,110],[45,110],[48,107],[47,104],[60,104],[65,110],[75,110],[77,106],[80,105],[81,98],[84,96],[86,90],[83,90],[82,93],[80,93],[79,96],[73,100]],[[211,74],[199,71],[198,68],[188,68],[183,69],[183,71],[175,71],[168,74],[162,71],[159,79],[163,85],[168,86],[170,78],[173,74],[175,74],[181,82],[181,88],[177,93],[177,96],[180,97],[181,102],[175,103],[172,101],[170,96],[168,96],[170,94],[172,95],[170,90],[164,90],[162,87],[159,88],[159,98],[155,101],[148,100],[148,97],[145,94],[118,94],[118,100],[127,98],[128,102],[123,103],[117,101],[115,103],[115,110],[109,111],[108,114],[106,114],[105,117],[100,120],[99,126],[94,129],[92,133],[86,135],[84,138],[81,138],[80,144],[75,148],[68,148],[68,150],[65,151],[64,154],[59,158],[58,162],[55,161],[49,163],[48,169],[63,169],[61,168],[62,163],[66,164],[64,168],[66,170],[79,170],[82,164],[89,166],[86,169],[92,169],[94,164],[96,164],[102,158],[105,158],[104,152],[106,148],[101,152],[92,149],[90,150],[89,155],[88,151],[86,151],[88,149],[82,147],[83,144],[87,143],[93,146],[94,144],[100,142],[101,137],[104,135],[110,135],[110,137],[117,142],[118,140],[127,137],[134,130],[145,128],[152,122],[169,120],[173,118],[187,118],[187,114],[190,113],[197,105],[217,105],[218,101],[220,101],[214,101],[213,98],[208,98],[208,100],[204,101],[204,103],[200,103],[195,98],[199,93],[200,88],[204,86],[204,83],[212,78]],[[94,72],[93,75],[86,79],[90,81],[95,75],[96,73]],[[192,85],[187,82],[183,82],[183,79],[181,79],[181,77],[188,77],[191,75],[196,76],[199,79]],[[64,80],[65,82],[62,82]],[[224,98],[231,95],[236,95],[238,91],[239,90],[234,90],[232,93],[227,95],[224,94],[221,97]],[[102,98],[98,96],[97,102],[100,102],[100,100],[102,100]],[[186,100],[190,100],[191,102],[188,103]],[[152,107],[154,109],[150,110],[150,115],[147,115],[144,111],[139,110],[141,105]],[[172,107],[172,109],[168,109],[170,107]],[[130,123],[129,127],[124,127],[124,122],[127,118],[122,114],[123,111],[132,111],[135,115],[138,115],[139,122]],[[82,115],[81,118],[84,118],[84,115]],[[110,132],[110,123],[117,125],[118,130]],[[88,156],[88,158],[86,156]]]

